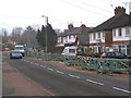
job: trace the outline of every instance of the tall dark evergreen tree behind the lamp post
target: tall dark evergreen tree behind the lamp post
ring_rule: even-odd
[[[47,45],[46,45],[46,37],[47,37]],[[41,30],[38,29],[36,39],[41,47],[46,48],[47,46],[48,52],[56,52],[57,34],[52,29],[52,26],[50,24],[48,24],[46,27],[43,26]]]

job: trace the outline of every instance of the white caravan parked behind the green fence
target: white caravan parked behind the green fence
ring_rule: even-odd
[[[64,56],[76,56],[76,48],[78,47],[75,47],[75,46],[66,47],[61,54],[64,54]]]

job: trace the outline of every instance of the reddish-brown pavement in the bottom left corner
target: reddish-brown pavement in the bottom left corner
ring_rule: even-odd
[[[3,62],[3,96],[52,96],[47,89]]]

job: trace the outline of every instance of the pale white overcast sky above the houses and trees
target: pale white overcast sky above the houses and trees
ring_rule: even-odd
[[[131,0],[0,0],[0,29],[13,27],[39,28],[48,16],[52,28],[61,30],[72,23],[74,27],[85,24],[95,27],[114,16],[114,9],[124,7],[129,13]]]

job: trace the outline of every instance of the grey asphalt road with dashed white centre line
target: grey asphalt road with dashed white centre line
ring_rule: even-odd
[[[2,60],[55,96],[129,96],[131,94],[128,79],[71,70],[64,65],[28,57],[10,60],[8,53],[2,56]]]

